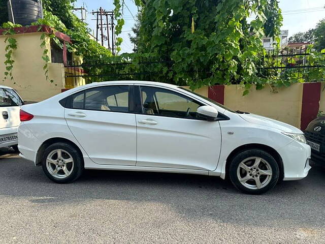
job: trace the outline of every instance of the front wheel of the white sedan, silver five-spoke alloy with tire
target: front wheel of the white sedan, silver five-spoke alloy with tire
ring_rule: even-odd
[[[237,154],[230,165],[230,179],[241,192],[262,194],[279,179],[279,166],[266,151],[249,149]]]

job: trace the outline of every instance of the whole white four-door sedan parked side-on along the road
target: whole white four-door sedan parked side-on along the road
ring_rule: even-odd
[[[311,168],[299,129],[171,84],[92,83],[24,105],[20,119],[21,157],[58,183],[84,168],[193,173],[260,194]]]

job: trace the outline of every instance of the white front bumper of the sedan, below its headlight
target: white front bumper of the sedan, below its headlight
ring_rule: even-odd
[[[308,175],[311,166],[310,146],[298,141],[290,142],[278,150],[283,161],[283,180],[297,180]]]

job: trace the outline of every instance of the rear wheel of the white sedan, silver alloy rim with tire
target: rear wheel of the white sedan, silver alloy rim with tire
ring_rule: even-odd
[[[45,149],[42,167],[47,177],[57,183],[72,182],[84,170],[79,151],[65,142],[54,143]]]

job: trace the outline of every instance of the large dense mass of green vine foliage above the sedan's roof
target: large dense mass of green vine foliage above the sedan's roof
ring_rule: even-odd
[[[123,0],[114,2],[116,15],[121,18]],[[263,85],[258,84],[261,79],[257,79],[255,64],[264,53],[264,36],[279,41],[282,16],[276,0],[136,3],[142,11],[138,52],[173,62],[157,65],[161,81],[191,88],[230,83]],[[249,22],[251,14],[256,17]]]

